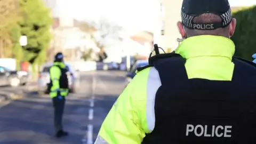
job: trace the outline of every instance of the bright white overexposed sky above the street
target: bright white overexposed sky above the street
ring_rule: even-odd
[[[97,20],[103,17],[118,23],[130,33],[141,30],[154,31],[160,11],[158,0],[55,1],[57,1],[55,13],[78,20]],[[256,0],[229,0],[229,3],[231,6],[249,6],[256,4]]]

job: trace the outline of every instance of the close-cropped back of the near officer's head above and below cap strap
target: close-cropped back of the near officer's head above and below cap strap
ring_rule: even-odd
[[[211,22],[221,22],[219,15],[212,13],[204,13],[198,15],[193,20],[194,23],[211,23]],[[198,35],[216,35],[216,36],[225,36],[229,37],[229,26],[225,28],[218,28],[214,30],[197,30],[197,29],[188,29],[186,28],[187,37],[198,36]]]

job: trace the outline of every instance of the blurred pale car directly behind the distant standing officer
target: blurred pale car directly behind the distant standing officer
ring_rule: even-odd
[[[49,91],[47,90],[47,86],[50,84],[50,68],[53,63],[48,63],[47,65],[43,66],[43,69],[39,73],[38,77],[38,92],[40,94],[48,94]],[[77,71],[74,71],[67,63],[65,64],[66,68],[68,69],[68,84],[69,84],[69,92],[75,93],[79,90],[80,85],[80,76]]]

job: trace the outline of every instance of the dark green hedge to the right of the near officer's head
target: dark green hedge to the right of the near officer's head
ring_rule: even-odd
[[[236,45],[235,55],[252,60],[256,53],[256,6],[244,7],[233,12],[237,20],[236,31],[231,39]]]

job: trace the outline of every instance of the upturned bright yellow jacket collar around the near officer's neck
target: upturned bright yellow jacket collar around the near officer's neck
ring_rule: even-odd
[[[231,39],[222,36],[202,35],[185,39],[175,50],[183,58],[218,56],[232,59],[235,44]]]

